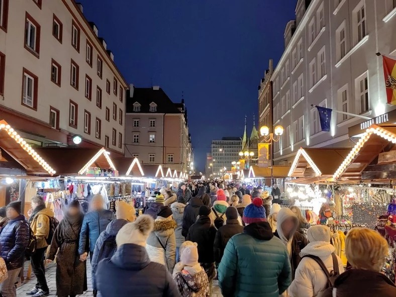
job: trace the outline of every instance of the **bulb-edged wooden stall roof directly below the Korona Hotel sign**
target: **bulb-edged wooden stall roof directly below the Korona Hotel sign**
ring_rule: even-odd
[[[334,170],[334,179],[361,179],[363,170],[381,152],[396,149],[396,125],[371,125]]]

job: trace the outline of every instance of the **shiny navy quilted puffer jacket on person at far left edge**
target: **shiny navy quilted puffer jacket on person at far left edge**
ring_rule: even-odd
[[[0,233],[1,256],[6,261],[8,270],[23,266],[29,235],[29,224],[24,215],[9,221],[2,229]]]

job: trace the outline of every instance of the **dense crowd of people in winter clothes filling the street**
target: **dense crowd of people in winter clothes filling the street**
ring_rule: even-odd
[[[207,297],[215,278],[226,297],[396,296],[396,286],[380,273],[388,246],[379,233],[348,232],[352,269],[344,271],[329,227],[309,226],[298,207],[272,201],[261,187],[182,182],[156,192],[139,217],[124,201],[116,214],[106,210],[101,195],[85,216],[73,201],[56,228],[41,196],[33,197],[28,220],[21,203],[12,202],[0,209],[0,255],[8,270],[0,293],[16,296],[36,238],[29,255],[37,277],[28,292],[33,297],[49,295],[45,263],[55,259],[59,297],[84,293],[87,260],[94,295],[102,297]]]

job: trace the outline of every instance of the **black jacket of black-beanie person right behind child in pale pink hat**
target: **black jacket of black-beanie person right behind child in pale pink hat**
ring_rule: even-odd
[[[212,225],[211,218],[207,216],[198,218],[196,223],[188,230],[186,239],[198,244],[198,261],[200,263],[215,262],[213,245],[216,231],[217,229]]]

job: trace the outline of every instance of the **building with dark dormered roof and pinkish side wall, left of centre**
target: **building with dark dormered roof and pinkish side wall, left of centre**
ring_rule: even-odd
[[[191,170],[191,136],[183,100],[173,103],[159,86],[131,85],[126,111],[126,157],[137,157],[143,164]]]

